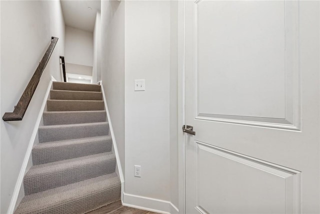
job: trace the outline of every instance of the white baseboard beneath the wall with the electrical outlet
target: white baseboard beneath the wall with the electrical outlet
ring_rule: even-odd
[[[128,194],[125,192],[123,192],[122,205],[163,214],[179,212],[170,201]]]

